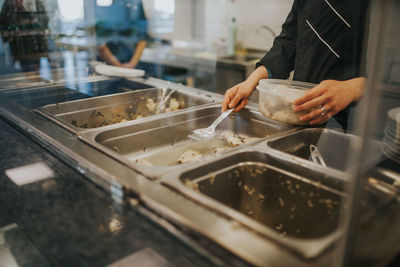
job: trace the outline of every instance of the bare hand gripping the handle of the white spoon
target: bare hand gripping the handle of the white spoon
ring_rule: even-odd
[[[240,104],[235,108],[235,112],[241,110],[244,106],[249,103],[248,97],[253,93],[258,82],[261,79],[267,79],[268,72],[264,66],[259,66],[255,71],[253,71],[250,76],[232,88],[226,90],[224,101],[222,102],[222,111],[228,108],[234,108],[236,105]]]

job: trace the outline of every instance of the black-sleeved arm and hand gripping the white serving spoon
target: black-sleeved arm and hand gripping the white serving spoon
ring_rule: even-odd
[[[295,0],[292,9],[282,25],[282,32],[274,40],[271,50],[256,65],[256,70],[242,83],[235,85],[226,91],[222,110],[235,107],[241,99],[244,99],[235,111],[241,110],[247,105],[247,98],[253,93],[261,79],[287,78],[294,68],[297,40],[297,10],[298,0]],[[267,71],[268,69],[268,71]]]

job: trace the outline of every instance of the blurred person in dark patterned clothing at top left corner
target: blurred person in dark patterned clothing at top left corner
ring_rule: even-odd
[[[46,9],[40,0],[5,0],[0,12],[0,33],[9,43],[15,63],[23,72],[39,69],[40,58],[48,54]]]

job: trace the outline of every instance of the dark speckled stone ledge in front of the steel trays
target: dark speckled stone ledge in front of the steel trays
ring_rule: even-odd
[[[18,235],[14,243],[30,243],[30,249],[17,246],[17,262],[25,258],[20,266],[107,266],[146,248],[171,266],[213,266],[135,210],[117,212],[103,190],[2,119],[0,131],[0,229],[15,223],[7,243]],[[18,187],[5,174],[40,161],[54,178]],[[230,266],[244,265],[225,253]]]

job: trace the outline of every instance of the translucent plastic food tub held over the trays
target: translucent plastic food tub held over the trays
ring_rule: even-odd
[[[316,84],[289,80],[264,79],[257,86],[260,91],[258,107],[264,116],[273,120],[305,125],[308,122],[300,121],[300,116],[316,109],[294,112],[293,101],[303,96],[307,90]]]

